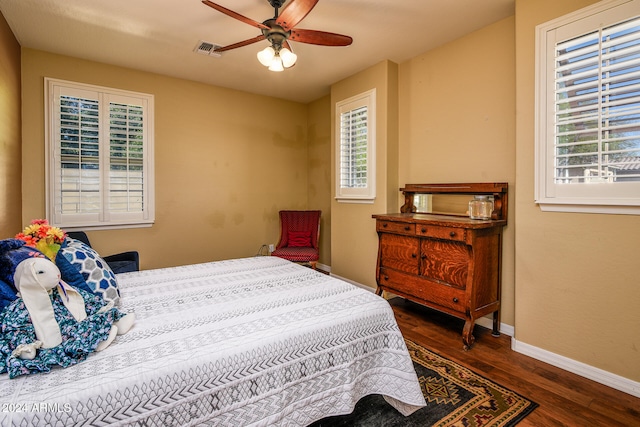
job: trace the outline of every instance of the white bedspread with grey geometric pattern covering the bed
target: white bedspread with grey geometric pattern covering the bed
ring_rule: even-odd
[[[10,380],[2,426],[305,426],[381,394],[424,397],[389,304],[277,257],[118,275],[131,331],[84,362]]]

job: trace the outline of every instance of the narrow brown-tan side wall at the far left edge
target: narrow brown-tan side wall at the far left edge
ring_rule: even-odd
[[[0,14],[0,239],[21,221],[20,45]]]

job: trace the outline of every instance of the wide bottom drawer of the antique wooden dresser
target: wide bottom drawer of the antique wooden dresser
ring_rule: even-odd
[[[408,294],[423,302],[464,313],[468,308],[466,292],[432,280],[401,273],[389,268],[380,269],[380,285],[390,292]]]

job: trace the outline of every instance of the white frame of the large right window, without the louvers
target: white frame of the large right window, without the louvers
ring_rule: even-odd
[[[542,211],[640,214],[640,182],[571,183],[555,175],[555,42],[640,15],[640,0],[609,0],[536,27],[535,202]],[[630,11],[634,14],[630,14]],[[598,116],[600,117],[600,116]],[[600,139],[598,139],[600,141]]]

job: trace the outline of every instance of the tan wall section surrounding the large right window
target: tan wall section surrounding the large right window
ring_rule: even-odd
[[[640,216],[534,203],[535,26],[592,3],[516,0],[516,338],[640,381]]]

